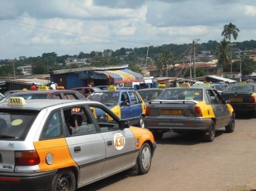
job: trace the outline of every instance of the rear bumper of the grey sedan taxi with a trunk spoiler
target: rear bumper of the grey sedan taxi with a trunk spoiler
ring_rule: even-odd
[[[145,127],[150,130],[207,130],[211,125],[211,119],[156,119],[145,118]]]

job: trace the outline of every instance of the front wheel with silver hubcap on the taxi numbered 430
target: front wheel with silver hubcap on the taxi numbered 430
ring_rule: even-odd
[[[137,158],[139,174],[148,173],[151,166],[151,159],[152,159],[151,148],[148,145],[148,143],[144,143],[141,146],[141,150]]]

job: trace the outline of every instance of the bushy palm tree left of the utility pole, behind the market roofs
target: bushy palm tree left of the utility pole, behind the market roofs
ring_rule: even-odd
[[[170,51],[163,50],[159,53],[158,61],[156,64],[157,70],[162,73],[162,68],[165,67],[166,77],[168,77],[168,69],[173,64],[173,54]]]

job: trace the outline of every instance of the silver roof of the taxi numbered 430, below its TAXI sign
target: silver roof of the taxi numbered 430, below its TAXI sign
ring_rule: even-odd
[[[65,103],[99,103],[99,102],[93,102],[93,101],[87,101],[87,100],[45,100],[45,99],[38,99],[38,100],[26,100],[26,105],[23,106],[10,106],[7,105],[8,102],[1,102],[0,103],[0,109],[22,109],[22,110],[37,110],[40,111],[43,108],[48,108],[51,106],[59,105],[61,107],[61,104]]]

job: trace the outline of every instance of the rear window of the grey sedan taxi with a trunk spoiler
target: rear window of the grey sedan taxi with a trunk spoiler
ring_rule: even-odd
[[[195,100],[202,101],[202,89],[166,89],[159,100]]]

